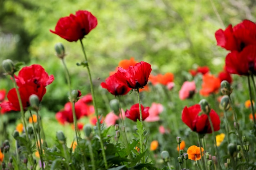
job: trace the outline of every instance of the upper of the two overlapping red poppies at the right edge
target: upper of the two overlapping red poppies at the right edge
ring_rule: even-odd
[[[219,29],[215,33],[217,45],[229,51],[242,51],[244,47],[256,45],[256,24],[250,20],[243,20],[232,28],[230,24],[225,31]]]

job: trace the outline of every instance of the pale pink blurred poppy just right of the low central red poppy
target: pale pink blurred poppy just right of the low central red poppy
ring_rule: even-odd
[[[149,116],[145,119],[145,121],[159,121],[159,113],[164,110],[164,106],[159,103],[152,103],[151,107],[148,110]]]

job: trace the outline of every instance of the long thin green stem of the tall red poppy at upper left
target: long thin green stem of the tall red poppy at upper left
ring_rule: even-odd
[[[82,50],[83,50],[83,55],[85,57],[85,62],[87,62],[86,68],[87,68],[88,75],[89,75],[89,80],[90,80],[90,88],[91,88],[91,93],[92,93],[92,103],[93,103],[93,106],[94,106],[95,115],[96,115],[97,122],[98,122],[97,123],[97,128],[99,129],[99,141],[100,141],[100,144],[101,144],[103,161],[104,161],[104,164],[105,164],[105,168],[108,169],[108,162],[107,162],[107,159],[106,159],[106,153],[105,153],[105,149],[104,149],[103,141],[102,141],[102,137],[101,137],[101,126],[100,126],[101,123],[99,121],[99,114],[98,114],[98,109],[97,109],[97,106],[96,106],[96,100],[95,100],[96,98],[95,98],[95,95],[94,95],[94,89],[93,89],[93,84],[92,84],[92,75],[91,75],[91,72],[90,72],[87,56],[86,56],[85,49],[83,47],[83,42],[82,42],[81,39],[80,39],[80,42],[81,42],[81,46],[82,46]]]

